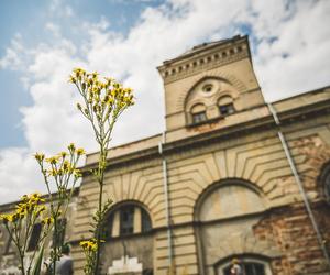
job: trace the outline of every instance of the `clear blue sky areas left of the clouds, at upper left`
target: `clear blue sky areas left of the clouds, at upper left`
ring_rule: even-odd
[[[162,1],[119,1],[119,0],[72,0],[62,9],[64,2],[43,0],[2,0],[0,2],[0,56],[15,35],[24,41],[24,46],[33,47],[41,42],[52,43],[53,35],[45,25],[50,22],[63,26],[65,36],[79,43],[84,37],[69,26],[84,22],[99,22],[102,19],[111,21],[111,29],[121,35],[127,35],[130,28],[140,20],[141,12],[147,7],[158,7]],[[63,16],[63,13],[79,14]],[[116,19],[116,20],[112,20]],[[32,100],[23,84],[18,81],[21,72],[1,69],[1,103],[0,117],[2,135],[0,147],[26,145],[21,124],[20,107],[31,105]]]

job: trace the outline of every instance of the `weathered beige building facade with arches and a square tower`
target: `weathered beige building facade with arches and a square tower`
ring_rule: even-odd
[[[246,36],[158,70],[166,131],[109,153],[101,273],[228,275],[235,260],[245,275],[330,274],[330,88],[265,103]],[[97,158],[87,156],[67,224],[75,274]]]

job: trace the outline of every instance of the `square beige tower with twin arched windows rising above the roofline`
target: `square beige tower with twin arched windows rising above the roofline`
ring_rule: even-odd
[[[229,117],[265,103],[248,36],[195,46],[158,70],[165,86],[167,132],[217,122],[227,127],[233,123]]]

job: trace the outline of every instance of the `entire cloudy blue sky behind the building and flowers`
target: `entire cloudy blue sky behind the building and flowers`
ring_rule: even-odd
[[[45,191],[35,152],[97,150],[74,67],[134,89],[118,145],[165,130],[156,67],[204,42],[248,34],[268,102],[329,86],[329,14],[328,0],[0,0],[0,204]]]

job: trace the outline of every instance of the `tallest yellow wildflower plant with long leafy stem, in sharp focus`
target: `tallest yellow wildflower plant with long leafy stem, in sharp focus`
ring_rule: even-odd
[[[134,105],[134,100],[131,88],[123,88],[112,78],[100,79],[98,73],[89,74],[81,68],[76,68],[69,81],[77,87],[82,98],[82,101],[77,103],[77,108],[91,124],[99,145],[98,167],[92,169],[99,184],[98,210],[92,217],[94,239],[80,243],[87,256],[87,265],[89,262],[92,263],[92,268],[86,268],[85,272],[96,275],[99,271],[102,223],[112,204],[111,200],[103,204],[102,198],[109,143],[114,123],[127,108]],[[95,246],[88,246],[87,243],[94,243]]]

